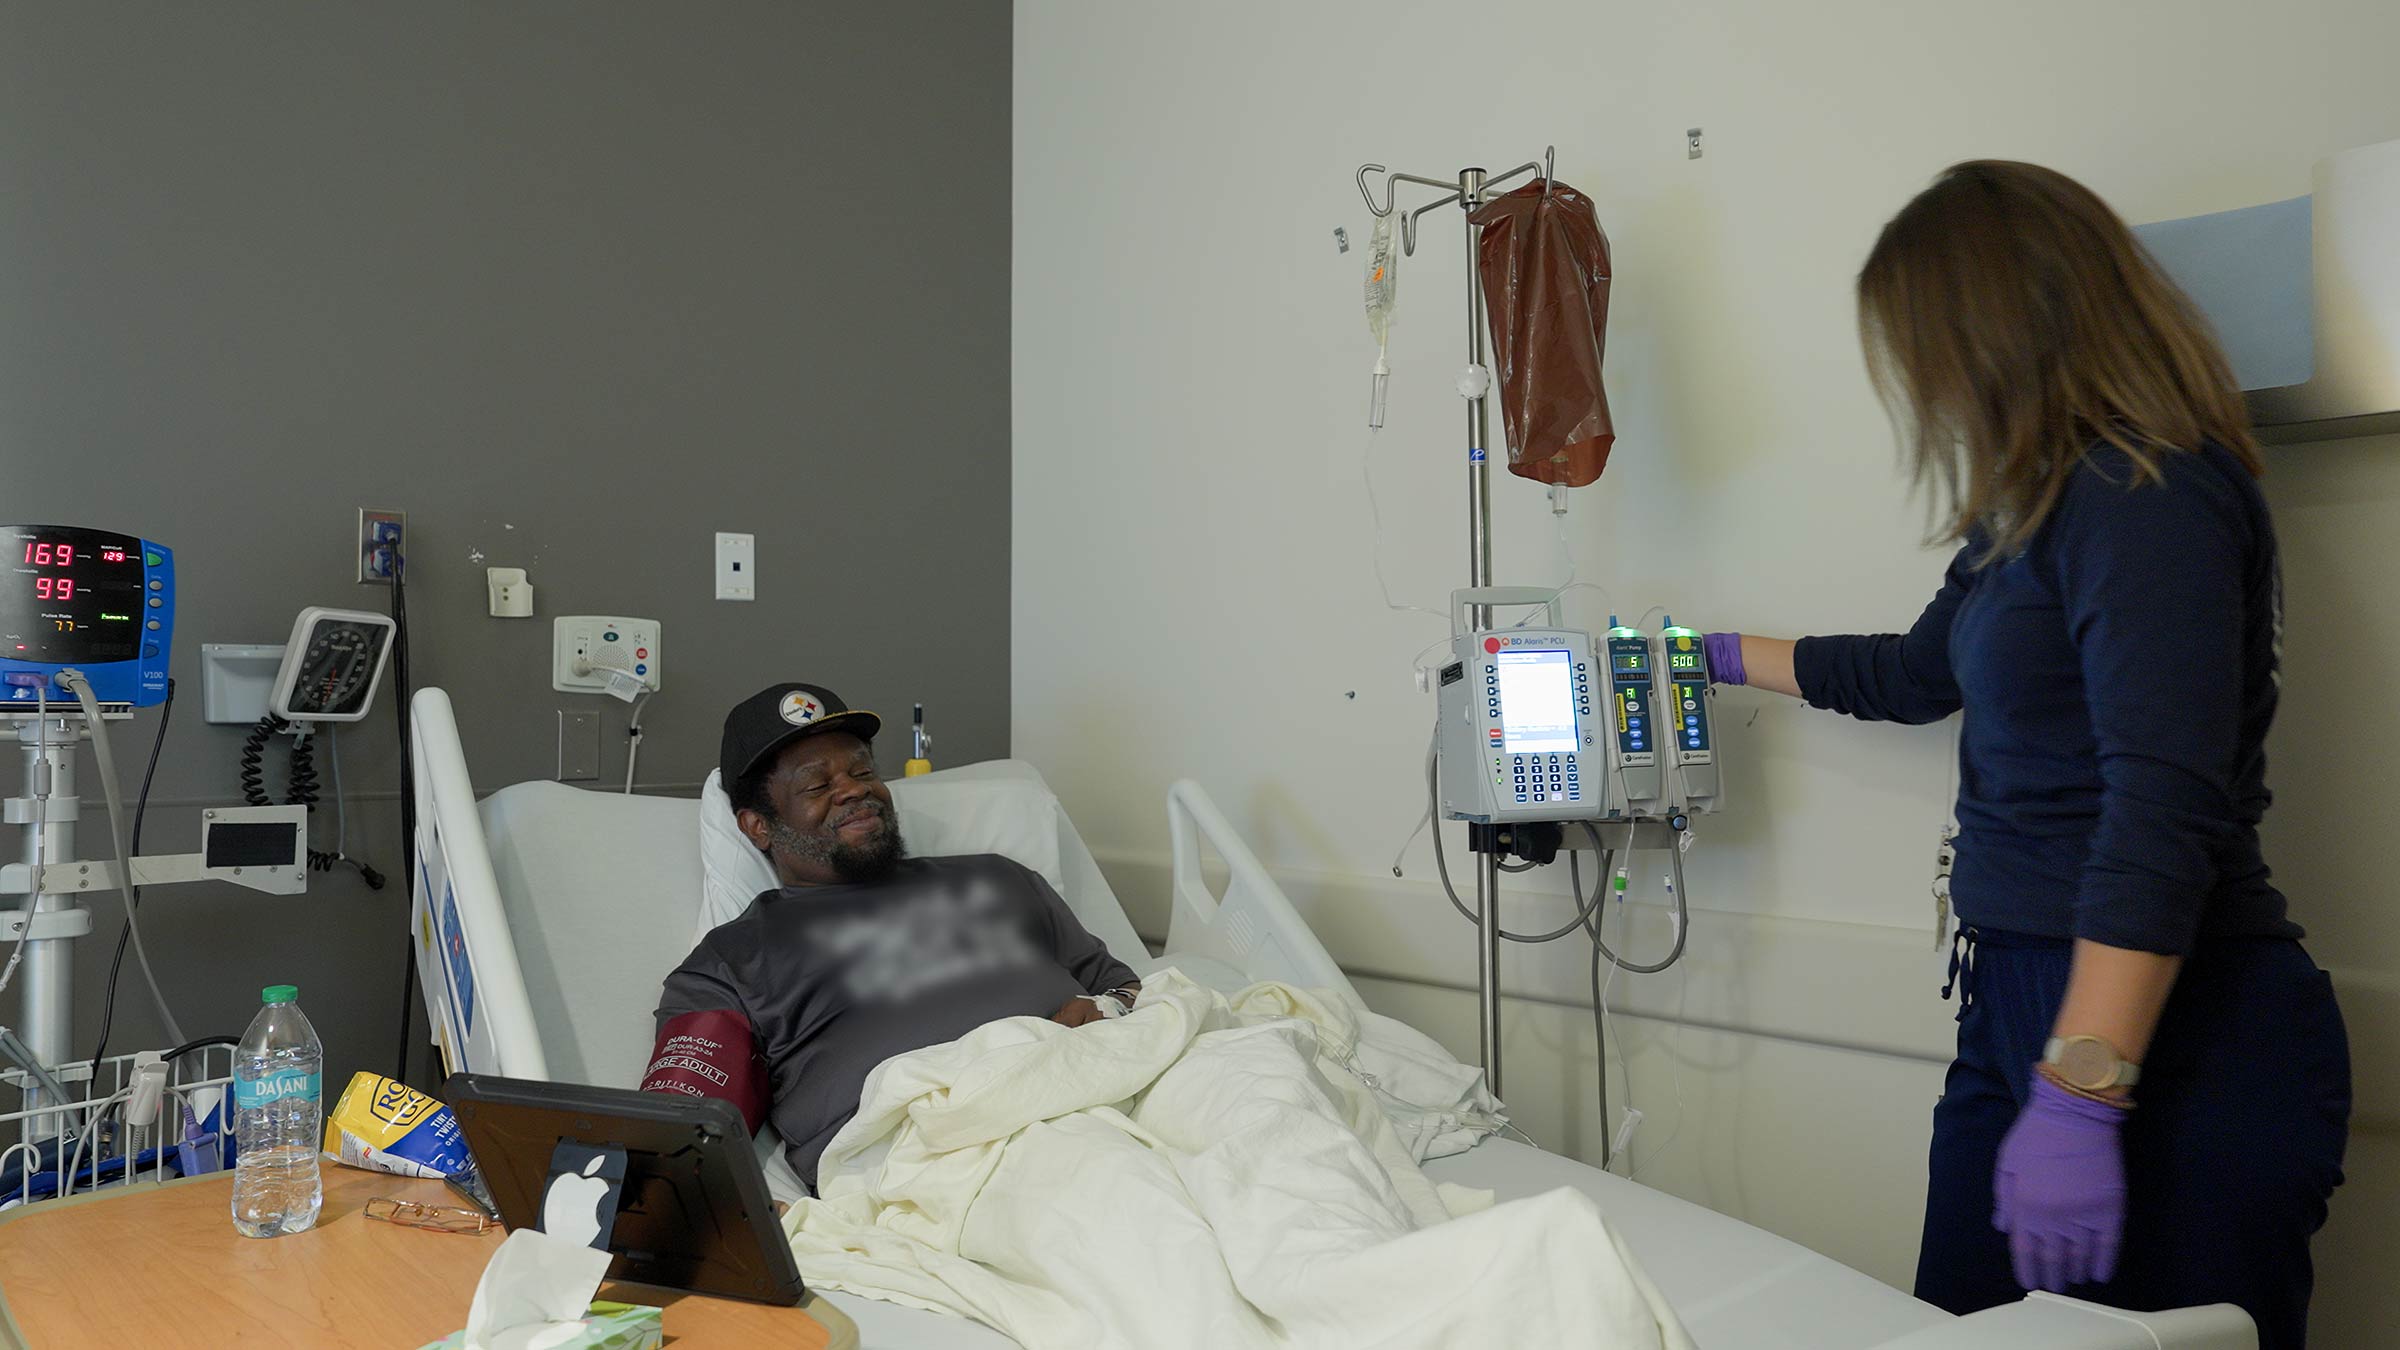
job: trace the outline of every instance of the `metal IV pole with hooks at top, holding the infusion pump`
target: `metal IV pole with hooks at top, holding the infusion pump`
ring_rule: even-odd
[[[1490,370],[1483,363],[1483,271],[1478,267],[1483,252],[1483,226],[1474,223],[1474,214],[1493,199],[1493,190],[1517,178],[1519,173],[1541,171],[1541,195],[1548,199],[1553,183],[1553,163],[1558,159],[1558,147],[1543,147],[1538,161],[1519,163],[1507,173],[1486,175],[1481,168],[1462,168],[1457,183],[1440,178],[1418,178],[1414,173],[1390,173],[1382,180],[1382,204],[1375,202],[1375,192],[1366,185],[1368,173],[1385,173],[1380,163],[1358,166],[1358,195],[1366,197],[1366,209],[1375,219],[1392,214],[1392,195],[1402,183],[1416,183],[1423,187],[1442,190],[1442,197],[1416,207],[1399,219],[1399,250],[1406,257],[1416,255],[1416,221],[1426,211],[1435,211],[1452,202],[1466,216],[1466,377],[1459,382],[1459,394],[1466,396],[1466,577],[1469,586],[1483,589],[1493,584],[1493,466],[1490,466],[1490,411],[1486,406],[1486,394],[1490,392]],[[1471,389],[1471,392],[1469,392]],[[1476,605],[1471,610],[1474,627],[1490,627],[1490,608]],[[1440,829],[1440,822],[1435,822]],[[1481,1031],[1483,1052],[1483,1086],[1500,1095],[1500,855],[1476,853],[1476,1014]]]

